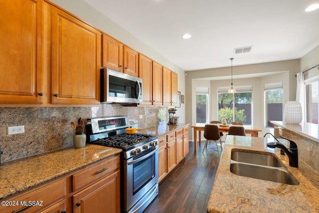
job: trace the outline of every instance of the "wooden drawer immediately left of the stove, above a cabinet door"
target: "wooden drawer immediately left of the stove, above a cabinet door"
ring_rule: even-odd
[[[72,175],[72,191],[74,192],[85,186],[91,185],[117,169],[120,169],[119,155],[84,169],[81,172]]]

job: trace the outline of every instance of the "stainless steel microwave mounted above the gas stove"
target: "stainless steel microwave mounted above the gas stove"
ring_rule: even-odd
[[[101,69],[101,103],[142,103],[142,79],[109,68]]]

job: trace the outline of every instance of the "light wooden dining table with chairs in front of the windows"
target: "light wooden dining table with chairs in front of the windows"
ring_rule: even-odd
[[[197,150],[197,131],[198,131],[198,141],[200,144],[201,139],[201,131],[205,130],[206,123],[196,123],[195,125],[192,125],[191,128],[194,129],[194,151]],[[258,132],[261,132],[262,130],[259,127],[255,127],[252,125],[223,125],[223,124],[209,124],[209,125],[217,125],[219,132],[225,132],[228,133],[229,127],[231,126],[243,126],[245,128],[245,133],[250,134],[252,137],[258,137]]]

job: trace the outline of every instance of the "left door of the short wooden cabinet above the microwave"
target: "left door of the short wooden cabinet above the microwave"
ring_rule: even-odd
[[[102,63],[104,67],[123,72],[123,44],[103,34]]]

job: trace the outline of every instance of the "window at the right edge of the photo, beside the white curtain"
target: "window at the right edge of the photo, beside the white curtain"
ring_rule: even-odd
[[[307,122],[318,124],[319,79],[306,83]]]

